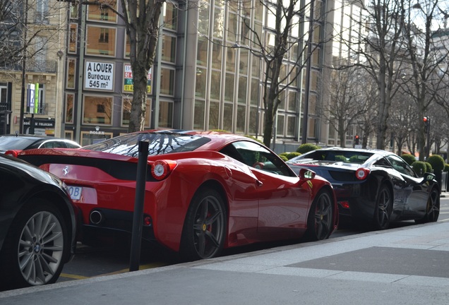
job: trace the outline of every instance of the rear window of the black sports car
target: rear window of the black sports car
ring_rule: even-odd
[[[313,150],[304,155],[295,157],[289,162],[306,162],[313,161],[330,161],[330,162],[345,162],[362,164],[368,160],[373,153],[361,152],[357,150]]]

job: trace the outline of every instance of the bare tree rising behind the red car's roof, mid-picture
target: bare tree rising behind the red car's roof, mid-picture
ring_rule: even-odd
[[[229,5],[239,1],[229,1]],[[251,9],[251,1],[241,1],[243,11]],[[287,86],[296,84],[303,68],[309,62],[311,54],[323,41],[313,40],[314,29],[323,25],[323,7],[321,2],[311,1],[304,4],[301,0],[257,1],[256,6],[263,6],[268,20],[265,26],[265,40],[248,18],[244,20],[245,40],[247,44],[236,47],[249,49],[263,61],[263,111],[265,122],[263,126],[263,143],[270,146],[273,135],[273,124],[277,109],[282,102],[280,96]],[[312,22],[309,19],[312,16]],[[244,16],[242,16],[244,17]],[[308,26],[309,25],[309,26]],[[301,30],[305,28],[305,30]],[[250,35],[251,34],[251,35]],[[287,66],[285,59],[290,53],[295,54],[294,65]],[[288,68],[289,67],[289,68]],[[306,76],[306,77],[309,77]],[[307,118],[304,118],[307,120]],[[304,139],[303,139],[304,141]]]

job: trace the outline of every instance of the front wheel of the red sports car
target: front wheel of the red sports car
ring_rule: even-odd
[[[333,232],[333,197],[327,190],[321,190],[313,200],[307,217],[306,240],[328,239]]]

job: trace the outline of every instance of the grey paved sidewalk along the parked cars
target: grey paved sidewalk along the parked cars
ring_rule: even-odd
[[[0,304],[448,304],[449,222],[0,292]]]

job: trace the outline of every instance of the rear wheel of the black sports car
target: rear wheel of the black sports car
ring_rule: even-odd
[[[383,230],[390,227],[391,212],[393,210],[393,196],[385,184],[381,185],[376,196],[374,207],[373,229]]]

